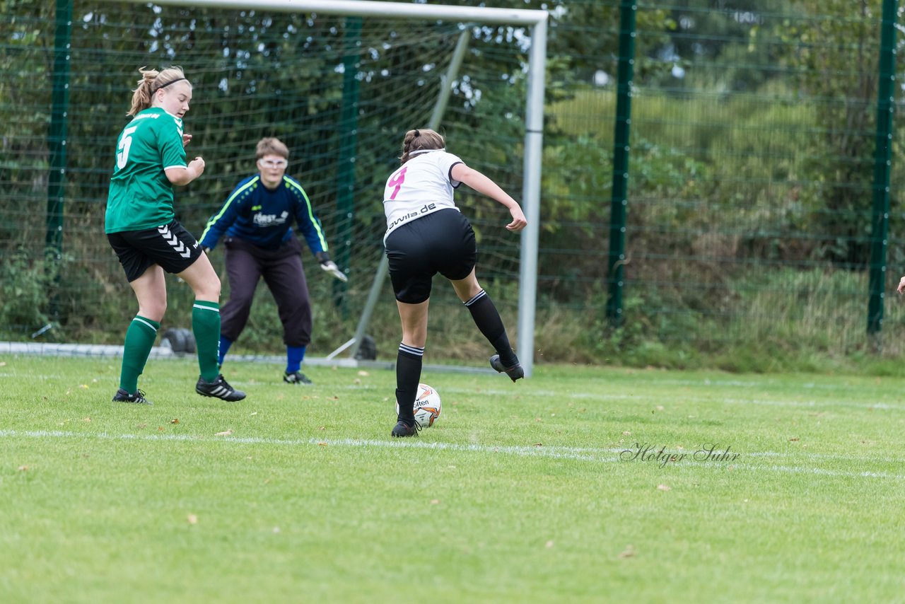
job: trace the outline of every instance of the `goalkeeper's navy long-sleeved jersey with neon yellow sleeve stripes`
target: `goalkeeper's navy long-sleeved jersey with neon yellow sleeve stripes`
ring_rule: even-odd
[[[283,176],[280,185],[270,190],[263,186],[261,175],[255,174],[226,197],[223,207],[207,221],[200,243],[214,249],[226,235],[273,250],[293,236],[293,222],[312,254],[328,251],[320,221],[299,182]]]

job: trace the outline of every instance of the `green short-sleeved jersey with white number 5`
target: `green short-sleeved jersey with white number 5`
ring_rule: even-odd
[[[105,231],[139,231],[168,225],[173,185],[167,168],[186,168],[182,120],[152,107],[140,111],[119,134],[110,178]]]

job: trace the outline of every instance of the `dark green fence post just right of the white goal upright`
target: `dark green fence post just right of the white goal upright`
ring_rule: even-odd
[[[625,264],[625,216],[628,206],[628,152],[632,129],[632,78],[634,73],[634,0],[619,5],[619,81],[613,142],[613,193],[610,198],[610,253],[607,259],[609,299],[606,317],[618,327],[623,321],[623,265]]]

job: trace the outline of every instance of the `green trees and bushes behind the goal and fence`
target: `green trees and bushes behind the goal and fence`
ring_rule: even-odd
[[[482,4],[550,13],[538,362],[811,369],[875,351],[865,325],[879,0],[638,5],[626,321],[615,331],[604,308],[618,3]],[[181,64],[203,91],[186,127],[213,169],[180,192],[180,220],[200,233],[248,173],[253,142],[285,139],[290,171],[308,189],[333,249],[349,250],[348,290],[310,275],[312,353],[347,339],[380,254],[374,191],[395,165],[400,133],[428,119],[459,24],[365,20],[356,44],[349,22],[329,15],[76,0],[63,254],[48,260],[54,7],[0,0],[0,8],[10,15],[0,23],[4,338],[30,340],[50,323],[35,339],[121,340],[134,309],[100,236],[113,141],[136,69]],[[470,52],[443,128],[457,153],[518,196],[525,32],[466,29]],[[349,142],[348,80],[338,65],[348,56],[360,87],[351,217],[338,201],[348,184],[338,166],[349,161],[340,154]],[[893,143],[898,151],[900,134]],[[895,160],[892,169],[889,269],[898,275],[905,254]],[[479,233],[481,281],[514,331],[518,242],[500,235],[492,202],[465,191],[458,201]],[[170,289],[167,321],[185,324],[187,288]],[[370,328],[384,354],[398,338],[388,289]],[[449,360],[482,355],[448,289],[438,283],[432,298],[431,352]],[[275,310],[260,294],[241,343],[277,351]],[[901,320],[900,305],[887,303],[881,353],[891,359],[900,353]]]

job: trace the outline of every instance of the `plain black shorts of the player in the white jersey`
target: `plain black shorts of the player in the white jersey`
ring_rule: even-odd
[[[472,272],[478,248],[468,218],[452,208],[438,210],[386,237],[390,281],[399,302],[419,304],[431,297],[436,273],[464,279]]]

